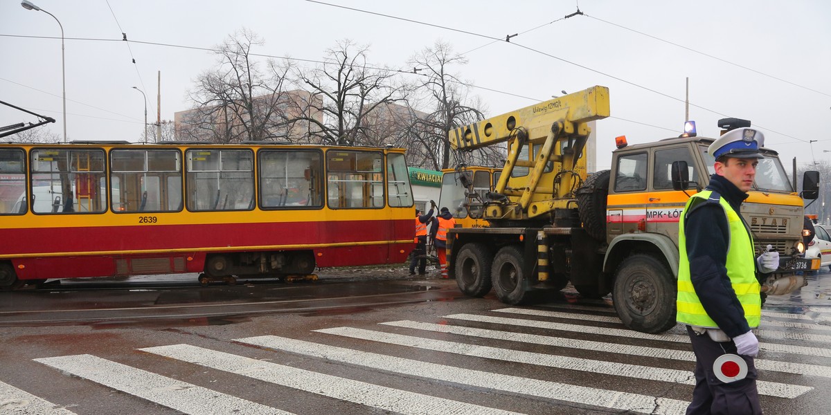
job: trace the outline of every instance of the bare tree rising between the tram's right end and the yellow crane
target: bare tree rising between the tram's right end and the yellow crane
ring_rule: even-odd
[[[411,58],[414,71],[424,71],[419,90],[431,112],[417,117],[406,131],[410,141],[408,162],[440,170],[460,162],[498,165],[504,150],[484,148],[471,153],[451,152],[447,134],[453,129],[484,118],[484,106],[469,96],[470,87],[450,73],[450,68],[465,65],[467,60],[455,54],[450,45],[437,41]]]

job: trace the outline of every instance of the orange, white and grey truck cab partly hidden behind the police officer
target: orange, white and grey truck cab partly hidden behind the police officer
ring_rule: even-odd
[[[668,289],[661,274],[669,271],[672,281],[678,275],[678,221],[687,199],[706,188],[715,173],[715,159],[707,153],[714,140],[684,137],[624,143],[612,153],[602,272],[624,324],[642,327],[649,325],[644,320],[671,314],[669,308],[665,313],[659,310],[660,292]],[[763,148],[762,153],[765,158],[759,160],[755,183],[740,213],[753,235],[755,255],[769,245],[779,252],[779,269],[761,281],[762,291],[783,295],[807,284],[796,271],[819,269],[819,263],[803,257],[803,198],[789,182],[776,152]],[[676,189],[673,183],[673,164],[686,166],[683,188]],[[628,258],[635,252],[652,256],[661,266],[652,271],[628,269]]]

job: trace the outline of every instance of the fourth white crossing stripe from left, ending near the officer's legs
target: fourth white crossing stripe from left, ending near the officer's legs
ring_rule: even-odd
[[[329,330],[317,331],[330,332]],[[509,393],[583,403],[603,408],[622,409],[637,413],[682,413],[689,404],[676,399],[654,398],[637,393],[613,392],[566,383],[492,374],[479,370],[458,368],[445,364],[432,364],[385,354],[367,353],[273,335],[248,337],[236,341],[419,378],[430,378],[477,388],[491,388]]]

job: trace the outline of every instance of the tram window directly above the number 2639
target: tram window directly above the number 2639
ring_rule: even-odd
[[[113,212],[181,209],[182,164],[178,150],[114,149],[110,152],[110,169]]]

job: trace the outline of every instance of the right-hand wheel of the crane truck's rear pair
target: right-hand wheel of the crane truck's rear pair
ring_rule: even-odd
[[[518,305],[532,300],[532,291],[526,291],[527,276],[522,268],[523,255],[518,247],[503,247],[494,256],[490,268],[494,291],[505,304]]]

